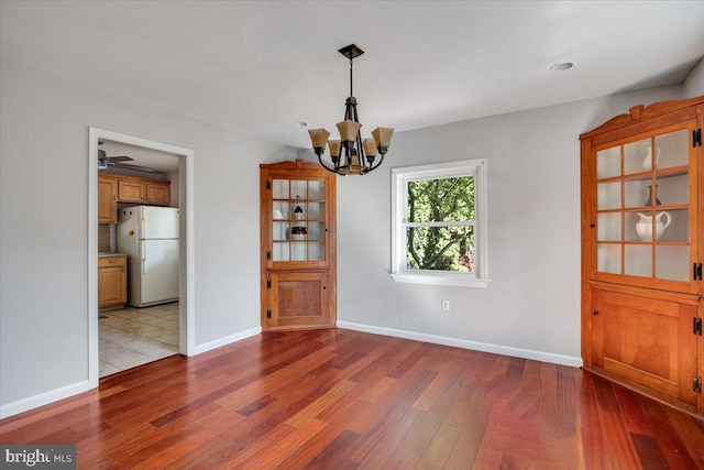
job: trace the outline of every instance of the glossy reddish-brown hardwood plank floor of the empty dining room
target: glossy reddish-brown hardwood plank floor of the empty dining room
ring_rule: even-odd
[[[331,329],[172,357],[0,422],[80,469],[704,469],[704,423],[580,369]]]

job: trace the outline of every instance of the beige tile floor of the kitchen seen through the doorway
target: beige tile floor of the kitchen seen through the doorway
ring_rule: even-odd
[[[101,378],[178,352],[178,302],[102,311],[99,318]]]

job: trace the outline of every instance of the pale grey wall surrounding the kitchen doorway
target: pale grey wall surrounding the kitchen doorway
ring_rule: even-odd
[[[88,127],[195,151],[197,348],[260,327],[258,164],[290,151],[0,63],[0,411],[88,379]]]

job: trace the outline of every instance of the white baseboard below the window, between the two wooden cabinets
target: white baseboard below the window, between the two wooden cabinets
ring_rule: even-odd
[[[449,338],[446,336],[427,335],[393,328],[382,328],[370,325],[353,324],[350,321],[338,321],[338,327],[355,331],[371,332],[374,335],[392,336],[394,338],[413,339],[416,341],[432,342],[435,345],[471,349],[473,351],[493,352],[494,354],[532,359],[535,361],[550,362],[553,364],[569,365],[572,368],[581,368],[583,364],[582,358],[575,358],[572,356],[556,354],[544,351],[534,351],[531,349],[513,348],[510,346],[490,345],[487,342],[469,341],[466,339]]]

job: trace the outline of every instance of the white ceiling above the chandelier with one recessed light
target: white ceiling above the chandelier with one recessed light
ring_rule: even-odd
[[[3,59],[294,147],[680,84],[704,1],[7,1]],[[573,62],[569,72],[551,65]],[[337,133],[337,130],[336,130]]]

